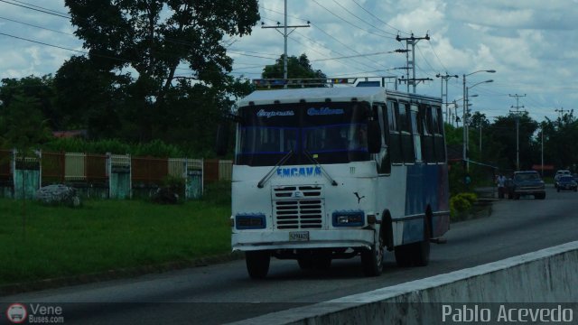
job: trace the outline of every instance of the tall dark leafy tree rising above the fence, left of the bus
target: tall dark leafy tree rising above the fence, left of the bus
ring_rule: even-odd
[[[212,133],[213,115],[228,111],[231,97],[242,88],[228,75],[232,59],[223,39],[251,32],[259,20],[256,0],[66,0],[65,4],[77,27],[75,34],[89,49],[90,69],[111,81],[107,91],[114,91],[107,73],[128,79],[120,88],[125,97],[118,107],[124,111],[117,114],[133,121],[135,129],[125,132],[138,140],[166,139],[175,125],[191,123],[186,108],[196,111],[191,117],[203,125],[203,132]],[[210,116],[203,115],[207,112]]]

